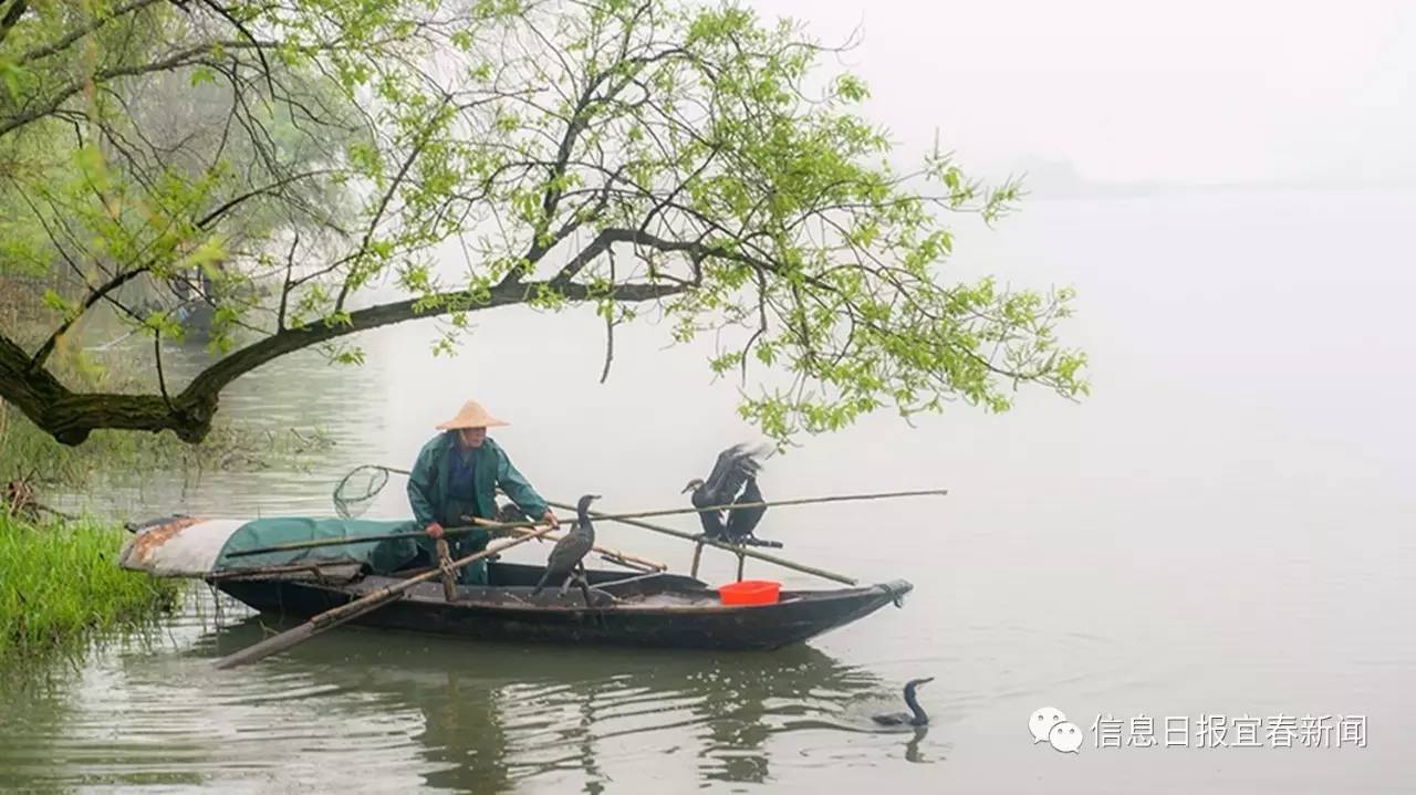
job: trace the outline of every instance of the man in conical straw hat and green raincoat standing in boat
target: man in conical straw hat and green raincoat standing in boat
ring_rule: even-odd
[[[467,400],[456,417],[438,426],[442,433],[418,451],[408,478],[408,502],[418,525],[433,539],[443,538],[443,528],[470,525],[472,516],[497,516],[497,487],[527,516],[539,516],[552,528],[561,526],[555,512],[511,465],[501,446],[487,437],[489,427],[504,424],[510,423]],[[481,552],[490,539],[489,530],[477,529],[449,536],[447,546],[456,560]],[[486,584],[487,562],[463,566],[457,579],[464,584]]]

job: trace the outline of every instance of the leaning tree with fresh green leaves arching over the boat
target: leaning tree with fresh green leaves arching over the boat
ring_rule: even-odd
[[[678,341],[726,331],[714,371],[790,381],[741,406],[777,439],[882,406],[1004,410],[1024,382],[1086,392],[1054,334],[1069,291],[944,277],[944,218],[991,222],[1018,185],[937,151],[896,171],[867,88],[820,75],[790,23],[670,0],[7,0],[0,18],[4,195],[31,229],[0,242],[0,273],[76,282],[41,335],[3,330],[0,396],[67,444],[198,441],[221,390],[278,356],[358,362],[350,335],[432,315],[449,349],[508,304],[593,304],[609,342],[647,311]],[[219,113],[154,112],[157,85]],[[251,287],[204,298],[224,355],[181,389],[156,344],[153,393],[61,383],[48,358],[103,306],[183,334],[120,298],[139,277]],[[367,301],[375,280],[405,297]]]

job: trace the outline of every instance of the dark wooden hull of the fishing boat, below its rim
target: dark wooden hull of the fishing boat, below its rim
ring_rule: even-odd
[[[613,584],[624,577],[592,571],[603,593],[586,608],[578,588],[559,596],[531,586],[539,567],[493,563],[493,586],[460,586],[452,603],[442,586],[421,583],[405,596],[353,620],[354,624],[455,635],[473,641],[599,644],[697,649],[777,649],[844,627],[886,604],[899,604],[912,590],[903,580],[830,591],[782,591],[780,601],[722,605],[704,583],[674,574]],[[367,577],[358,583],[310,580],[224,579],[217,586],[255,610],[309,618],[347,604],[396,580]]]

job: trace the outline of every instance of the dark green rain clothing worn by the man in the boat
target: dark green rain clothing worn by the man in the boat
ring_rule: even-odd
[[[413,519],[419,528],[438,522],[445,528],[466,526],[464,515],[489,519],[497,513],[497,487],[517,504],[527,516],[539,518],[547,511],[545,499],[531,488],[531,484],[511,465],[506,451],[490,437],[481,447],[472,448],[472,484],[455,484],[452,455],[459,454],[457,431],[443,431],[435,436],[418,453],[413,472],[408,477],[408,502],[413,508]],[[491,533],[472,530],[447,539],[453,559],[464,557],[487,547]],[[423,536],[416,542],[391,542],[399,550],[388,550],[392,559],[412,557],[413,564],[433,566],[438,560],[436,545]],[[416,545],[416,550],[404,549]],[[479,560],[459,569],[459,581],[486,584],[487,562]]]

